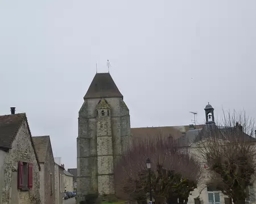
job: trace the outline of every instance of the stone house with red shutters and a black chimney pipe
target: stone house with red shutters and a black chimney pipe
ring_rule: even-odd
[[[0,203],[40,204],[40,164],[26,113],[0,116]]]

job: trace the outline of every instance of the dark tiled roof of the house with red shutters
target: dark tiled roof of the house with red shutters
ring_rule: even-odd
[[[26,119],[25,113],[0,116],[0,146],[11,148],[22,122]]]

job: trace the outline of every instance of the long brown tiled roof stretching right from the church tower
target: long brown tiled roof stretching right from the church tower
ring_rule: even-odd
[[[196,129],[201,129],[204,125],[196,125]],[[131,128],[133,139],[143,139],[147,137],[155,137],[163,135],[178,139],[189,130],[189,125],[184,126],[164,126],[164,127],[148,127],[148,128]]]

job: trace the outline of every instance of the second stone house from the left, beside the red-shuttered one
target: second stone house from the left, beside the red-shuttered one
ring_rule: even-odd
[[[42,204],[55,204],[55,162],[49,136],[32,137],[40,163],[40,197]]]

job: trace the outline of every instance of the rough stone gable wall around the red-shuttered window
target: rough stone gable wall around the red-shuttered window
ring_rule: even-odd
[[[33,187],[28,191],[18,190],[18,162],[33,163]],[[3,196],[2,204],[40,204],[40,179],[39,166],[36,160],[34,148],[32,147],[30,134],[26,122],[20,126],[13,146],[6,155],[3,164]]]

